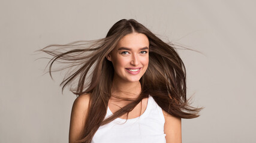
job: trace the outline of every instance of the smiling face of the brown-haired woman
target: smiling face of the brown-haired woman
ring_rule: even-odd
[[[149,64],[149,39],[135,32],[125,35],[107,59],[112,61],[115,80],[138,82]]]

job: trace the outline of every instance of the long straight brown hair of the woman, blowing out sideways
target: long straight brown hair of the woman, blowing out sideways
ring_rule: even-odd
[[[112,63],[106,56],[119,40],[129,33],[143,33],[149,39],[149,65],[140,79],[141,93],[131,103],[104,120],[112,95],[114,75]],[[63,51],[65,50],[65,51]],[[49,45],[41,51],[53,56],[49,61],[52,76],[53,63],[65,63],[62,69],[71,69],[61,83],[62,90],[71,85],[71,91],[80,96],[90,94],[89,110],[83,136],[78,142],[91,142],[101,125],[129,113],[143,98],[150,96],[162,110],[175,117],[191,119],[198,117],[201,108],[191,107],[186,99],[186,70],[176,49],[156,37],[135,20],[115,23],[106,38],[97,41],[77,41],[66,45]],[[62,70],[59,69],[59,70]],[[74,86],[74,83],[77,85]],[[72,86],[73,85],[73,86]],[[129,100],[125,98],[124,100]]]

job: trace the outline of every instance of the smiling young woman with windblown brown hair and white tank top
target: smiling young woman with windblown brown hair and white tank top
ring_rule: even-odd
[[[118,21],[98,41],[42,51],[54,56],[50,74],[55,61],[72,69],[63,89],[77,84],[70,142],[182,142],[181,118],[198,117],[200,108],[186,100],[185,66],[174,47],[135,20]]]

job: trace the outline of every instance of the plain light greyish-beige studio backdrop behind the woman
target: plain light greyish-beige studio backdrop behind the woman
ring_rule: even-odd
[[[134,18],[179,50],[188,97],[204,106],[182,120],[183,142],[256,142],[255,1],[7,1],[0,4],[0,142],[68,142],[76,96],[61,94],[34,51],[99,39]],[[44,74],[44,75],[43,75]]]

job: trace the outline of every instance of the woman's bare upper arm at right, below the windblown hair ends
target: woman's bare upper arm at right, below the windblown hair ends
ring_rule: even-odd
[[[181,119],[173,117],[164,110],[164,133],[166,134],[165,139],[166,143],[181,143]]]

